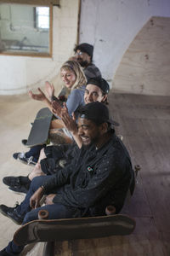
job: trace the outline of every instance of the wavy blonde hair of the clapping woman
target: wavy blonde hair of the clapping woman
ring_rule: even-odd
[[[76,81],[71,87],[71,90],[74,90],[82,85],[87,84],[87,79],[85,77],[85,74],[83,73],[82,67],[77,61],[66,61],[60,68],[60,71],[62,69],[74,72],[76,75]]]

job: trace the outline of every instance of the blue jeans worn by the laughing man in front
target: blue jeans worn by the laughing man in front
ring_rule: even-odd
[[[21,202],[20,206],[17,207],[17,212],[24,217],[23,223],[26,224],[30,222],[31,220],[35,220],[38,218],[38,212],[41,209],[45,209],[48,211],[49,219],[57,219],[57,218],[77,218],[81,217],[81,212],[74,207],[65,207],[62,204],[53,204],[53,205],[46,205],[44,207],[39,207],[35,210],[31,210],[30,207],[30,198],[31,195],[34,194],[34,192],[44,183],[48,180],[51,176],[40,176],[40,177],[34,177],[30,189],[26,195],[26,198],[24,201]],[[50,191],[49,194],[57,194],[59,189],[54,189],[53,191]],[[6,252],[11,255],[17,255],[19,254],[24,247],[23,246],[17,246],[14,241],[9,241],[8,246],[5,248]]]

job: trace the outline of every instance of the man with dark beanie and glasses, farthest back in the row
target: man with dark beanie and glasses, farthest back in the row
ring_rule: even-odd
[[[99,78],[101,73],[99,68],[93,63],[94,46],[91,44],[83,43],[78,44],[75,49],[74,60],[78,61],[83,68],[83,72],[87,79]]]

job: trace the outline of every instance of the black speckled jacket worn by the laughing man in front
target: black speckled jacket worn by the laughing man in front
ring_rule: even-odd
[[[107,205],[119,212],[133,178],[131,160],[121,140],[112,135],[102,148],[82,147],[69,166],[43,184],[49,192],[61,187],[54,203],[81,209],[82,216],[101,215]]]

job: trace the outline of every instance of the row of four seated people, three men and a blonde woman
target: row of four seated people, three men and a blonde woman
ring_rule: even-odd
[[[40,89],[37,95],[30,91],[33,99],[48,104],[54,113],[51,128],[63,133],[64,142],[31,148],[25,161],[33,156],[37,163],[28,176],[3,177],[9,189],[26,193],[20,205],[0,205],[0,212],[16,224],[37,219],[41,209],[48,211],[49,219],[105,215],[108,205],[116,213],[122,209],[133,183],[133,168],[127,149],[116,137],[116,122],[105,104],[110,87],[92,63],[93,50],[90,44],[77,45],[73,60],[61,67],[66,102],[55,98],[54,86],[48,82],[48,97]],[[12,240],[0,255],[19,255],[23,248]]]

